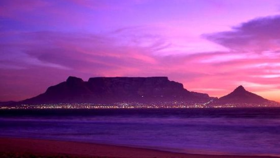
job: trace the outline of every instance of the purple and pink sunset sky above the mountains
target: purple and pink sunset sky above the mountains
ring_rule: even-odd
[[[68,76],[167,76],[280,102],[279,0],[1,0],[0,101]]]

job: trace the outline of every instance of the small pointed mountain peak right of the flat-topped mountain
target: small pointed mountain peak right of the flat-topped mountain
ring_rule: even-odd
[[[220,103],[267,103],[270,102],[257,94],[251,93],[243,86],[238,86],[233,92],[218,99]]]

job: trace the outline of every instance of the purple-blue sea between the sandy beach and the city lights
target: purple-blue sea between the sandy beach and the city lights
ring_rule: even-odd
[[[1,110],[0,136],[280,156],[280,108]]]

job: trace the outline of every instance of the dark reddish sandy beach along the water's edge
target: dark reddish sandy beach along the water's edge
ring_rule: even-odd
[[[0,138],[1,157],[122,157],[122,158],[273,158],[173,153],[152,149],[71,141]]]

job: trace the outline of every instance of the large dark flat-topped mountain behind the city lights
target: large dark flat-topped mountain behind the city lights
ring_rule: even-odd
[[[45,93],[20,104],[40,103],[151,103],[161,101],[205,101],[208,94],[190,92],[167,77],[94,77],[83,81],[68,77]]]

